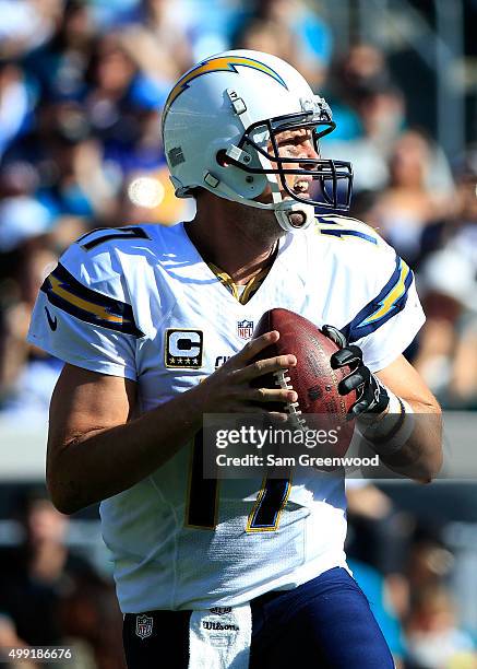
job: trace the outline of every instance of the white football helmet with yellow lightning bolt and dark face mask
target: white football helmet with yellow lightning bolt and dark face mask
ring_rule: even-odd
[[[162,127],[179,198],[191,197],[193,188],[206,188],[235,202],[274,210],[286,231],[307,227],[314,206],[349,207],[349,163],[278,154],[278,132],[309,128],[318,152],[318,140],[335,128],[325,101],[281,58],[234,50],[200,62],[169,93]],[[295,192],[286,175],[302,176],[309,183],[308,197]],[[258,202],[266,186],[273,201]],[[284,199],[283,191],[291,199]],[[297,212],[302,216],[293,216],[300,221],[294,225],[290,214]]]

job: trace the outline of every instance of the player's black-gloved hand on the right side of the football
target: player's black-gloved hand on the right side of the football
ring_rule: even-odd
[[[339,395],[357,391],[356,402],[348,411],[349,418],[361,413],[380,414],[387,410],[390,396],[379,378],[370,372],[362,362],[362,351],[355,344],[349,344],[341,330],[333,326],[323,326],[322,332],[339,347],[330,359],[333,369],[349,366],[351,372],[338,384]]]

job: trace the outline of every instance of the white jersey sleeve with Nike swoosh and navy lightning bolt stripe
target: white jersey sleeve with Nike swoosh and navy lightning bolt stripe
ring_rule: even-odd
[[[88,251],[80,239],[41,284],[28,342],[72,365],[135,380],[142,332],[124,285],[114,250]]]

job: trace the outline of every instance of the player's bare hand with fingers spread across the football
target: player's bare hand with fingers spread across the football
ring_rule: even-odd
[[[252,382],[261,376],[287,369],[297,364],[295,355],[277,355],[257,360],[264,349],[278,339],[279,332],[273,330],[250,340],[239,353],[200,384],[196,390],[202,395],[203,413],[275,414],[276,411],[269,412],[263,404],[266,402],[283,402],[284,404],[296,402],[298,396],[295,390],[252,386]]]

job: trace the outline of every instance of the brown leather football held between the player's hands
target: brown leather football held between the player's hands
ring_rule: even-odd
[[[298,401],[287,404],[286,410],[296,416],[297,425],[300,423],[303,427],[311,425],[302,414],[320,415],[318,422],[321,426],[326,423],[325,416],[330,419],[326,423],[329,427],[337,422],[343,438],[334,451],[343,455],[353,436],[353,421],[347,421],[346,414],[356,401],[356,391],[345,396],[338,392],[338,383],[350,372],[349,367],[333,369],[330,364],[330,357],[338,347],[310,320],[288,309],[277,308],[265,312],[253,331],[253,338],[271,330],[278,330],[279,339],[264,349],[260,359],[291,353],[297,359],[297,365],[285,373],[259,377],[254,385],[287,387],[295,390]],[[279,409],[283,410],[283,406]],[[317,419],[314,426],[315,421]]]

